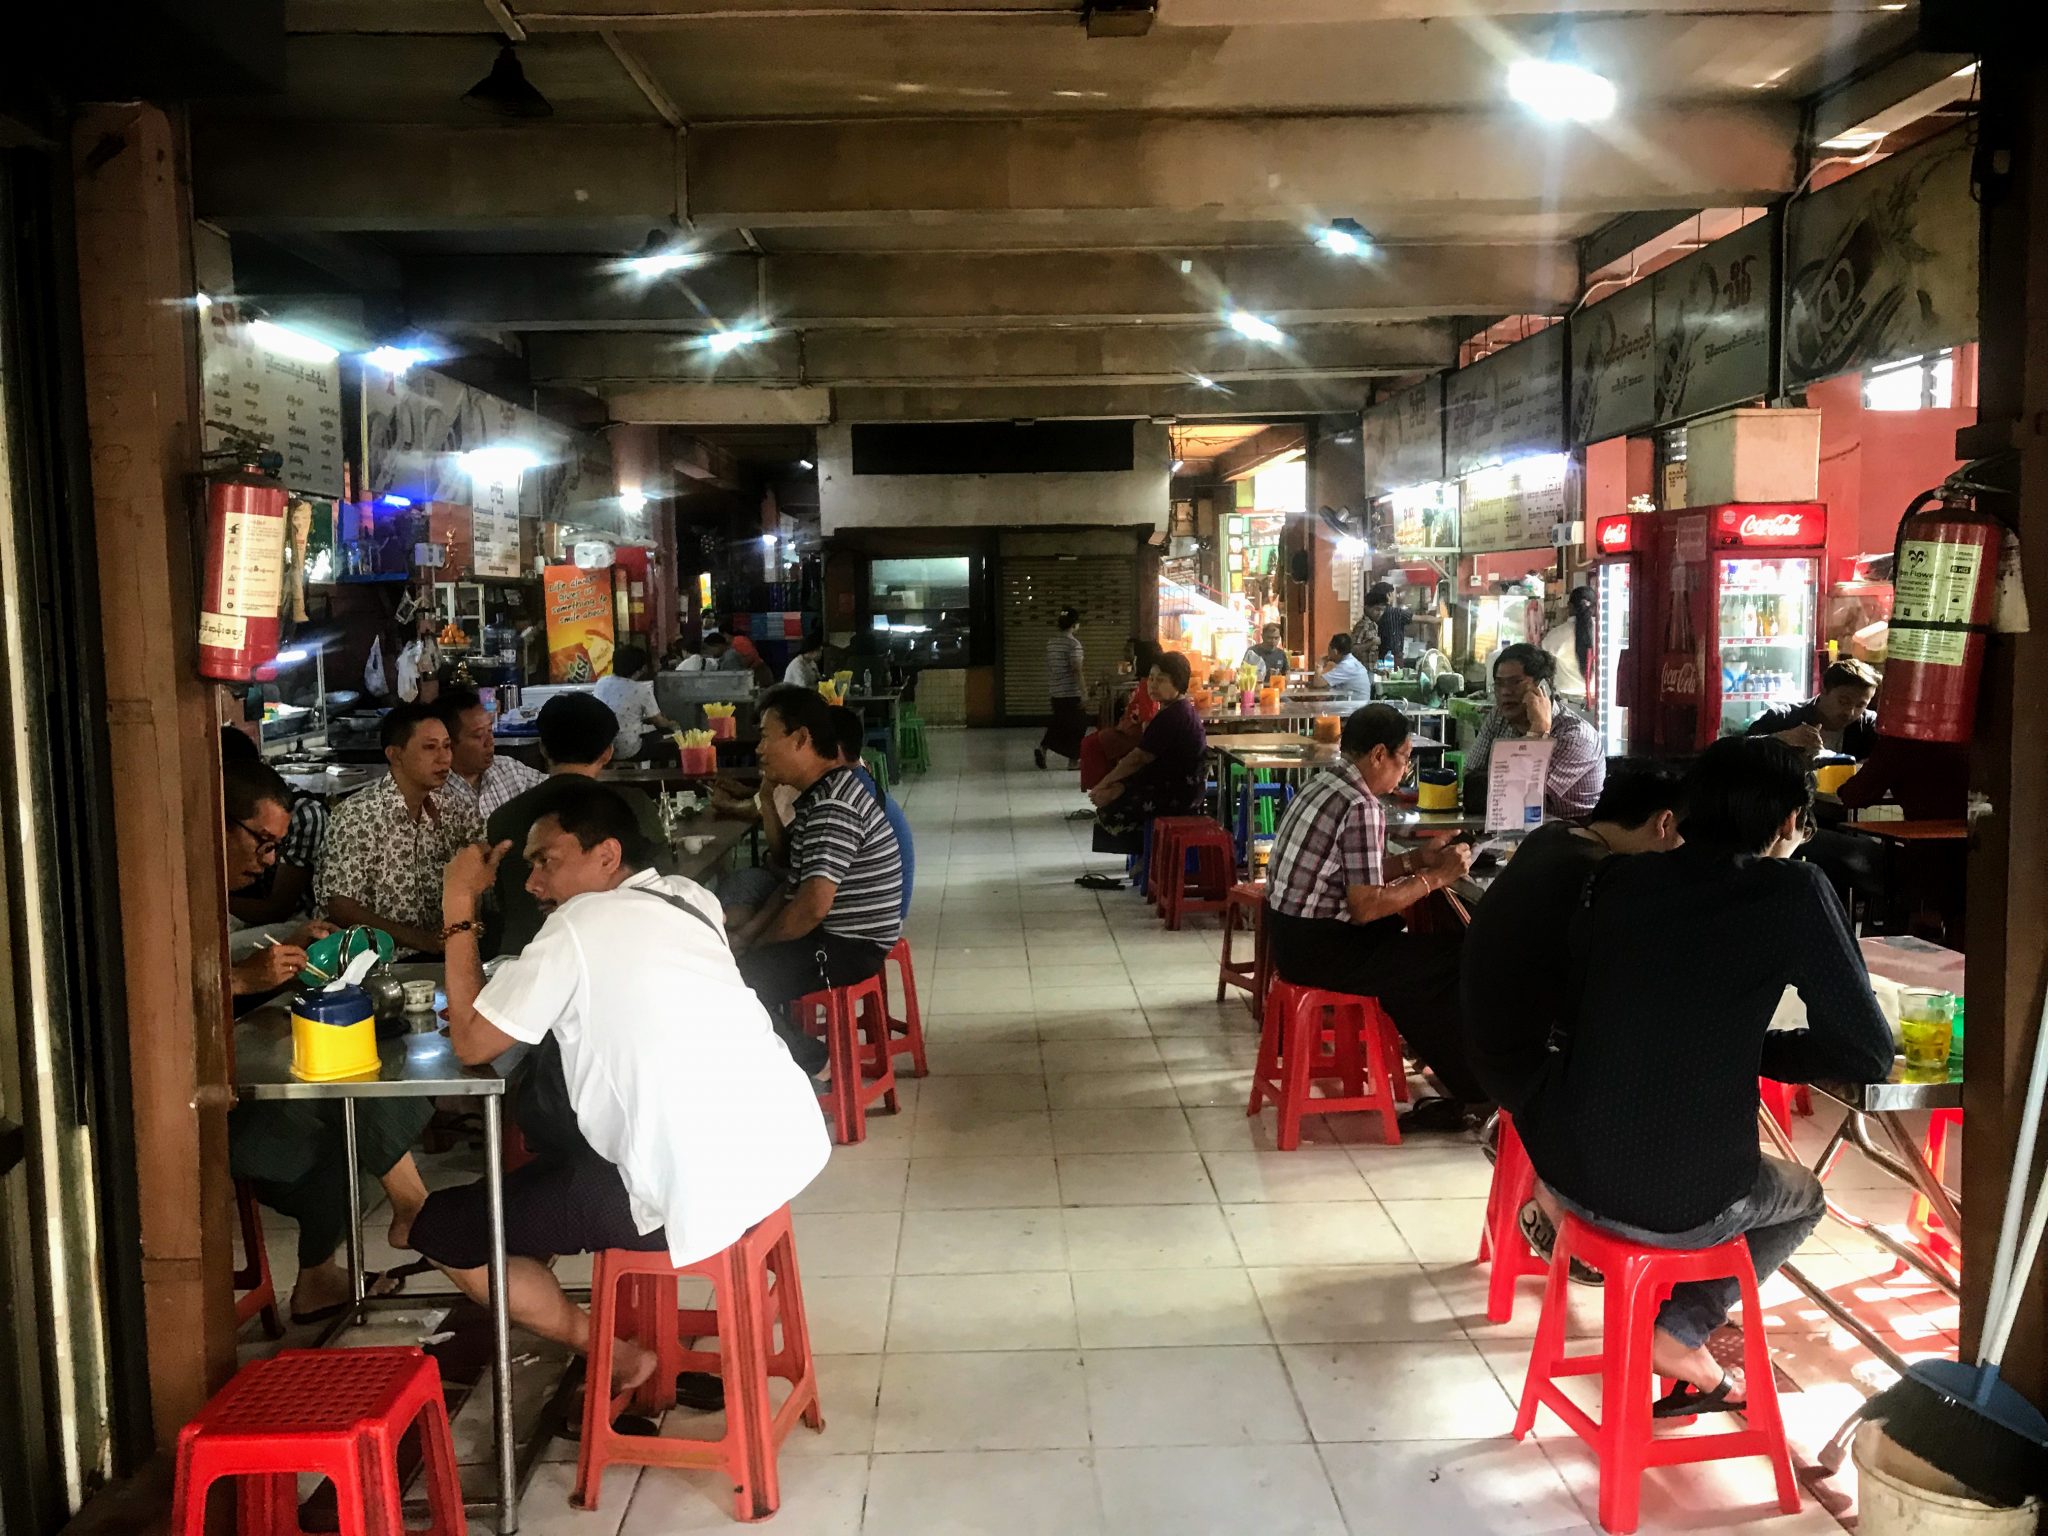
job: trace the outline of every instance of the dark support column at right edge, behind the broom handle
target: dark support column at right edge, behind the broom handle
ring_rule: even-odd
[[[1985,14],[1991,14],[1987,10]],[[2017,23],[2013,23],[2017,25]],[[1972,780],[1991,799],[1970,846],[1968,1081],[1964,1085],[1964,1354],[1985,1331],[2013,1141],[2042,1008],[2048,934],[2048,63],[2019,37],[1985,39],[1982,268],[1978,426],[1958,457],[2007,455],[1987,473],[2017,483],[2034,631],[1991,645],[1976,715]],[[1999,504],[1993,504],[1999,506]],[[2005,1376],[2036,1403],[2048,1393],[2042,1272],[2028,1278]]]

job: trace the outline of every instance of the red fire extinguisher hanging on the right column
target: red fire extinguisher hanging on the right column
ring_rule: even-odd
[[[1999,592],[2003,526],[1960,492],[1923,492],[1892,545],[1892,625],[1878,731],[1968,741],[1985,637]]]

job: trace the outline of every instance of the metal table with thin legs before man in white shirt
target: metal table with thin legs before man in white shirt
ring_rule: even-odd
[[[393,975],[432,977],[438,965],[395,965]],[[475,1098],[483,1106],[483,1184],[492,1225],[492,1419],[498,1432],[498,1530],[518,1530],[518,1448],[512,1438],[512,1317],[506,1311],[506,1210],[504,1210],[504,1079],[487,1067],[465,1067],[436,1026],[446,995],[434,993],[434,1014],[414,1014],[406,1034],[381,1040],[377,1075],[334,1083],[307,1083],[291,1073],[291,1004],[279,999],[236,1020],[236,1094],[252,1102],[338,1100],[348,1165],[348,1288],[352,1305],[322,1335],[322,1343],[362,1317],[362,1174],[356,1167],[358,1098]],[[453,1294],[453,1292],[451,1292]],[[420,1298],[410,1296],[416,1305]]]

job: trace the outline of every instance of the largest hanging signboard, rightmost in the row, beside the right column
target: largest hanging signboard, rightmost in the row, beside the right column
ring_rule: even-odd
[[[1788,389],[1976,340],[1968,129],[1845,176],[1786,217]]]

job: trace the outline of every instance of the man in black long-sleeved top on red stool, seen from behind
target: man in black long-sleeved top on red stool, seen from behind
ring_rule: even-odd
[[[1579,1004],[1544,1092],[1518,1124],[1559,1204],[1636,1243],[1749,1239],[1757,1276],[1823,1214],[1804,1167],[1757,1151],[1757,1077],[1880,1081],[1892,1036],[1827,881],[1792,854],[1810,815],[1806,766],[1782,741],[1731,737],[1694,764],[1686,844],[1610,858],[1571,928]],[[1769,1030],[1786,985],[1806,1028]],[[1673,1288],[1655,1368],[1679,1386],[1661,1417],[1741,1407],[1706,1350],[1735,1278]]]

